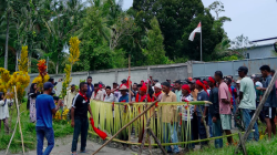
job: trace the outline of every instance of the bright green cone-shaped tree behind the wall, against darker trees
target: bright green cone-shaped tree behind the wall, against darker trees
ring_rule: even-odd
[[[146,65],[154,64],[165,64],[168,62],[168,59],[165,56],[164,51],[164,37],[160,30],[158,22],[154,17],[150,23],[152,30],[148,30],[147,33],[147,45],[146,49],[143,49],[143,54],[146,55]]]

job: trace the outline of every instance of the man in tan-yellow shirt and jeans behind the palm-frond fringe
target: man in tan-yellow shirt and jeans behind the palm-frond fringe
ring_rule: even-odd
[[[168,82],[163,83],[163,96],[161,102],[177,102],[176,95],[171,91],[171,84]],[[162,123],[164,143],[170,143],[168,138],[172,138],[172,143],[177,143],[177,106],[176,105],[163,105],[162,106]],[[167,153],[179,153],[178,145],[174,145],[172,151],[171,146],[165,147]]]

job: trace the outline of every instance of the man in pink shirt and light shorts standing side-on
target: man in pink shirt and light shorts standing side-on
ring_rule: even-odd
[[[232,128],[232,103],[230,103],[230,93],[228,85],[223,80],[222,71],[215,72],[215,80],[219,84],[218,86],[218,102],[219,102],[219,116],[222,122],[222,128],[226,135],[230,135]],[[227,137],[228,144],[233,144],[233,137]]]

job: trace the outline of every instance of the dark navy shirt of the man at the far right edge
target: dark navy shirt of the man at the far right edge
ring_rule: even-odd
[[[268,87],[270,81],[271,81],[273,76],[271,75],[268,75],[266,78],[266,82],[264,84],[264,87]],[[264,106],[269,106],[269,107],[277,107],[277,101],[276,101],[276,90],[275,90],[275,84],[274,84],[274,87],[273,90],[270,91],[267,100],[266,100],[266,103]]]

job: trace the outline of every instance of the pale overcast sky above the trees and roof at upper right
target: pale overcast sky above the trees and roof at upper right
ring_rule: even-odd
[[[215,0],[202,1],[205,7],[208,7]],[[222,0],[222,2],[225,12],[219,16],[232,19],[224,24],[230,40],[240,34],[248,37],[250,41],[277,37],[276,0]],[[124,0],[123,9],[127,10],[132,4],[133,0]]]

